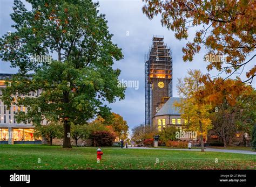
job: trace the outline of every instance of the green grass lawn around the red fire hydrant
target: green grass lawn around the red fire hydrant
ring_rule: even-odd
[[[96,150],[0,145],[0,169],[256,169],[256,155],[248,154],[102,148],[103,159],[97,163]]]

